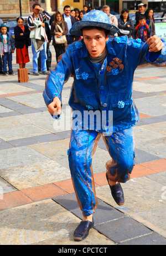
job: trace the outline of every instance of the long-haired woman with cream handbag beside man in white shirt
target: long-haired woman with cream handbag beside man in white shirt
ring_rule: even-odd
[[[63,30],[63,33],[60,31],[60,28]],[[55,42],[54,36],[56,35],[57,37],[66,35],[68,33],[68,24],[63,20],[63,17],[60,12],[55,12],[54,15],[54,21],[51,24],[51,31],[50,35],[53,36],[53,46],[55,49],[56,53],[56,62],[58,63],[58,57],[60,54],[65,52],[65,47],[67,46],[67,43],[63,44],[57,44]]]

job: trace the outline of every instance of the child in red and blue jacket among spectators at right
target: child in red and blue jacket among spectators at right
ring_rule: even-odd
[[[139,16],[139,24],[134,29],[133,39],[139,38],[142,42],[146,42],[151,37],[151,29],[146,22],[145,16]]]

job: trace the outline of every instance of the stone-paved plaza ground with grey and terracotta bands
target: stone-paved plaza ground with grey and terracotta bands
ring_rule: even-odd
[[[31,47],[30,47],[31,48]],[[68,98],[72,79],[64,86],[64,126],[57,127],[48,113],[45,78],[29,81],[0,76],[0,244],[153,245],[166,244],[166,73],[165,68],[137,68],[133,97],[140,121],[133,127],[136,165],[122,184],[125,204],[112,199],[105,178],[108,155],[102,139],[93,158],[98,197],[95,226],[89,237],[74,242],[73,232],[82,218],[71,184],[67,149],[70,138]],[[54,68],[55,52],[51,67]]]

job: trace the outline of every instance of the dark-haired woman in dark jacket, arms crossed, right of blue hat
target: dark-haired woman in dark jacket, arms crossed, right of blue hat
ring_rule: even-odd
[[[128,9],[122,10],[121,16],[118,19],[118,28],[120,28],[120,31],[119,31],[120,36],[127,36],[128,38],[132,36],[134,24],[132,19],[129,18]]]

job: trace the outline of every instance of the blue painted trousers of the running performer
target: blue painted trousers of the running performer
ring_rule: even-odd
[[[69,167],[77,202],[84,216],[94,213],[97,208],[92,155],[102,133],[95,130],[71,130],[68,150]],[[125,183],[134,165],[134,137],[132,128],[103,136],[111,159],[106,163],[108,179]],[[104,170],[103,170],[104,171]]]

